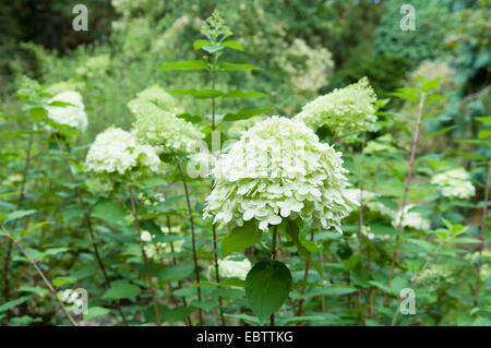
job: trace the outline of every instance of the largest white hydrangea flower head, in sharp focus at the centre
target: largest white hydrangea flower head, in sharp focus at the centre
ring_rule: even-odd
[[[204,216],[241,226],[255,220],[260,229],[284,218],[313,218],[334,227],[358,202],[348,185],[342,153],[319,141],[303,122],[273,116],[242,134],[213,170],[215,185]]]

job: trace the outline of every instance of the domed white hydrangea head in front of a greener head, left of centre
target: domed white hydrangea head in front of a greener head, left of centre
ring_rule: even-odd
[[[85,171],[94,175],[136,178],[163,175],[167,169],[154,147],[139,143],[133,134],[118,128],[98,134],[85,159]]]

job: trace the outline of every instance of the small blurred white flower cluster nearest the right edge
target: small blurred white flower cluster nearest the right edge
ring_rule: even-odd
[[[467,200],[476,194],[476,188],[470,182],[470,176],[464,168],[456,168],[438,173],[431,178],[442,195],[448,199]]]

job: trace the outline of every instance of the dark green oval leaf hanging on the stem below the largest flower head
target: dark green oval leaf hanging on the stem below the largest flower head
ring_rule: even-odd
[[[260,321],[275,313],[288,298],[291,274],[275,260],[262,261],[249,271],[246,278],[246,299]]]

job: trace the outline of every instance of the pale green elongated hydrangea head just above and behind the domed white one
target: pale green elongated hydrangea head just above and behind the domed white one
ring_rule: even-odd
[[[128,107],[136,117],[133,123],[135,136],[140,142],[155,146],[159,153],[193,152],[204,137],[191,122],[176,117],[182,109],[158,86],[141,92]]]

